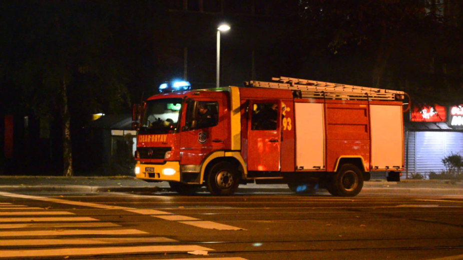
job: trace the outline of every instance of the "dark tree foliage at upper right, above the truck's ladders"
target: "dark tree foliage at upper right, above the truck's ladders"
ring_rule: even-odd
[[[461,1],[307,0],[306,42],[339,80],[461,102]],[[323,53],[323,54],[320,54]],[[357,78],[349,78],[349,77]],[[344,78],[342,78],[344,77]]]

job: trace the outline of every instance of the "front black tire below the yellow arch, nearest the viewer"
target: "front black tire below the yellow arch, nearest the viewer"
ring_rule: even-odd
[[[238,188],[240,175],[233,164],[221,161],[210,168],[206,183],[211,194],[229,196]]]

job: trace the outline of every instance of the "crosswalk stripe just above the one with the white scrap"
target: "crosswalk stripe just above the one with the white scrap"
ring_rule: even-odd
[[[166,243],[178,242],[175,239],[155,237],[108,237],[108,238],[71,238],[71,239],[0,239],[1,246],[11,245],[64,245],[64,244],[108,244],[108,243]]]

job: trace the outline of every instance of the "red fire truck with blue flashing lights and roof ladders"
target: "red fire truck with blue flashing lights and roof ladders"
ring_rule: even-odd
[[[272,80],[200,90],[176,82],[178,91],[135,105],[136,176],[185,194],[206,185],[214,195],[255,182],[355,196],[373,171],[400,179],[406,93]]]

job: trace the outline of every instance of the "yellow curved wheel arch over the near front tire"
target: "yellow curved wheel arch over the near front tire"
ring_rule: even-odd
[[[209,169],[219,161],[228,161],[237,165],[241,178],[245,178],[248,174],[246,164],[239,151],[215,151],[209,154],[201,165],[201,183],[206,179]]]

